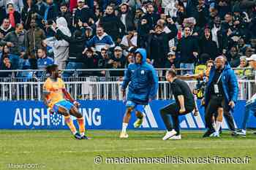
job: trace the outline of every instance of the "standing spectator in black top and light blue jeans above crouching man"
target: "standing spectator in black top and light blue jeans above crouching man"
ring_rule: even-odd
[[[195,68],[195,63],[198,56],[198,44],[195,36],[191,36],[191,30],[189,27],[184,28],[184,36],[178,42],[177,51],[180,52],[180,68],[189,69],[187,71],[182,71],[183,74],[192,74],[192,69]]]

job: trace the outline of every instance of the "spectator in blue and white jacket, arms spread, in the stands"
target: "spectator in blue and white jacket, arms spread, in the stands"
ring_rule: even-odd
[[[88,47],[94,47],[97,52],[101,52],[102,47],[115,47],[111,36],[105,33],[102,26],[97,26],[96,35],[87,42]]]

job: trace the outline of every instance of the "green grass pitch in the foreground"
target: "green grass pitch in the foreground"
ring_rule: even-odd
[[[14,165],[31,163],[34,169],[115,170],[177,169],[225,170],[256,169],[256,136],[202,139],[203,131],[181,131],[180,141],[162,141],[165,131],[128,131],[129,139],[119,139],[119,131],[88,131],[91,140],[73,139],[69,131],[0,130],[0,170],[18,169]],[[249,163],[94,163],[97,155],[105,158],[251,158]],[[12,163],[12,164],[10,164]],[[23,164],[22,164],[23,163]],[[12,166],[10,166],[12,165]],[[16,168],[15,168],[16,167]],[[29,169],[29,166],[27,166]],[[21,167],[20,169],[26,169]]]

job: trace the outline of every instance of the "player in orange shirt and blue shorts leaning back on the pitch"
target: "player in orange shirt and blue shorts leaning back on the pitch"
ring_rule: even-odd
[[[75,101],[67,92],[63,80],[60,78],[58,65],[53,64],[46,68],[50,77],[45,81],[43,86],[43,101],[50,112],[64,115],[65,122],[76,139],[89,139],[85,136],[85,125],[83,115],[78,112],[78,101]],[[77,117],[79,131],[75,128],[70,115]]]

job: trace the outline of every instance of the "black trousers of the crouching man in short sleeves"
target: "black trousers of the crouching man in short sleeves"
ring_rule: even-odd
[[[173,128],[174,130],[177,132],[176,135],[179,135],[180,134],[180,128],[179,128],[179,120],[178,120],[178,116],[180,115],[186,115],[188,114],[189,112],[192,112],[194,107],[188,107],[188,106],[185,106],[186,108],[186,112],[184,113],[179,113],[179,109],[181,107],[178,106],[178,104],[176,103],[173,103],[173,104],[169,104],[167,105],[166,107],[160,109],[160,114],[161,114],[161,117],[162,117],[162,120],[164,121],[165,123],[165,127],[167,129],[167,131],[171,131]],[[173,126],[172,124],[170,123],[170,117],[169,115],[172,117],[172,120],[173,120]]]

